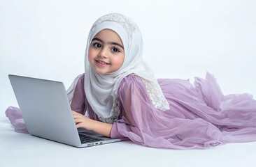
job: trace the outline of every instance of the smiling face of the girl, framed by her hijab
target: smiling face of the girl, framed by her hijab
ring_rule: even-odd
[[[122,40],[115,31],[104,29],[92,39],[88,59],[98,74],[115,72],[125,60]]]

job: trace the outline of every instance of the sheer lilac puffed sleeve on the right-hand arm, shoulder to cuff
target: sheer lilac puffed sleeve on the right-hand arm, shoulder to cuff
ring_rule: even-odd
[[[144,145],[145,138],[152,134],[150,120],[154,118],[150,97],[143,81],[138,76],[130,75],[122,80],[118,88],[122,106],[122,118],[114,122],[111,137],[129,138],[134,143]]]

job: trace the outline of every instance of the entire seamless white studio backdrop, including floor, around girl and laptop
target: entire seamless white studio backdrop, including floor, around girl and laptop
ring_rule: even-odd
[[[144,60],[157,78],[193,82],[210,72],[225,95],[256,95],[255,8],[253,0],[0,0],[0,164],[22,166],[34,159],[31,166],[78,166],[85,161],[89,166],[255,166],[255,143],[177,151],[121,142],[80,150],[14,133],[4,116],[8,106],[17,106],[8,74],[63,81],[69,87],[84,72],[90,27],[107,13],[122,13],[138,24]],[[93,157],[99,152],[102,161]],[[74,158],[81,156],[90,159]]]

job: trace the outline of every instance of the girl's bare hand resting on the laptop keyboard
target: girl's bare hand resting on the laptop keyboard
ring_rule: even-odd
[[[92,125],[93,125],[93,120],[90,118],[87,118],[86,116],[84,116],[83,114],[77,113],[76,111],[72,111],[73,113],[73,118],[76,122],[76,127],[82,127],[85,128],[87,130],[92,130]]]

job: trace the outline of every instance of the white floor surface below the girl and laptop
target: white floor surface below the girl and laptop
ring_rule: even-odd
[[[1,115],[2,116],[2,115]],[[0,119],[0,166],[256,166],[256,142],[207,150],[146,148],[129,141],[73,148],[29,134],[15,133]]]

